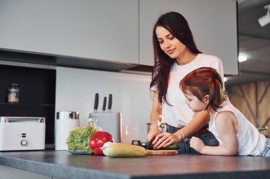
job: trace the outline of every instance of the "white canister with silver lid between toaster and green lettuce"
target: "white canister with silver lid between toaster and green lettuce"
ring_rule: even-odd
[[[80,127],[79,112],[61,111],[56,113],[55,150],[68,150],[66,141],[72,129]]]

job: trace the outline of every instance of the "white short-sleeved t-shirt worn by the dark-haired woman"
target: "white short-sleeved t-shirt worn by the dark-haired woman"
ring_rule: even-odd
[[[185,96],[180,90],[179,83],[188,73],[200,67],[212,67],[213,69],[217,69],[223,81],[224,71],[222,61],[213,55],[198,54],[193,62],[185,65],[178,65],[175,62],[171,68],[166,94],[167,101],[171,106],[166,102],[162,103],[163,120],[168,125],[183,127],[193,119],[194,112],[188,108],[188,105],[185,105]],[[156,86],[153,86],[151,90],[156,91]]]

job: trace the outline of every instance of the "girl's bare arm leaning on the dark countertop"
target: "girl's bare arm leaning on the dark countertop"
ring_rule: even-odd
[[[200,142],[198,142],[197,141],[198,139],[191,139],[190,146],[193,147],[193,142],[194,142],[193,140],[196,140],[195,142],[198,142],[197,146],[200,146],[200,145],[201,146],[195,150],[197,150],[201,154],[208,154],[208,155],[235,155],[237,154],[238,142],[237,142],[237,132],[234,128],[234,121],[237,121],[237,119],[232,112],[224,111],[224,112],[219,112],[217,114],[215,126],[217,129],[217,134],[220,135],[223,145],[205,146],[203,143],[201,144]]]

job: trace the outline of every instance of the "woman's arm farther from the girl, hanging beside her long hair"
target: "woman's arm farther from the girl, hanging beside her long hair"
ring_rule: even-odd
[[[151,125],[147,134],[148,141],[151,141],[159,133],[158,122],[161,122],[161,104],[158,102],[158,92],[153,92],[153,105],[150,115]]]

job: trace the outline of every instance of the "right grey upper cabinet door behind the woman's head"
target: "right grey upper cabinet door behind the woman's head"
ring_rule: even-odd
[[[140,64],[153,65],[153,25],[168,11],[185,16],[199,50],[220,57],[225,74],[239,73],[235,0],[139,0]]]

